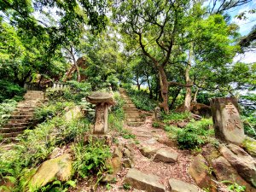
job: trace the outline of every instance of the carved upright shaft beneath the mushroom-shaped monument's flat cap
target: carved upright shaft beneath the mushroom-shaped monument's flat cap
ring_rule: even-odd
[[[105,134],[108,131],[108,103],[96,105],[94,134]]]

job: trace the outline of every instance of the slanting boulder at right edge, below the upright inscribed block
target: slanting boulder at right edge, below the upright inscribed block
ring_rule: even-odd
[[[256,187],[256,161],[252,156],[234,144],[229,144],[228,148],[221,146],[220,153],[247,183]]]

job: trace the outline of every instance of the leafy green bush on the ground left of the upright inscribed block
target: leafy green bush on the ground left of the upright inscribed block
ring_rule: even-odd
[[[177,131],[179,148],[193,149],[206,143],[207,137],[214,134],[209,125],[212,125],[212,119],[201,119],[190,122],[185,128]]]

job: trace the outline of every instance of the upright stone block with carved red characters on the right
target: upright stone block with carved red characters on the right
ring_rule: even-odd
[[[215,136],[230,143],[242,143],[245,139],[236,97],[211,100]]]

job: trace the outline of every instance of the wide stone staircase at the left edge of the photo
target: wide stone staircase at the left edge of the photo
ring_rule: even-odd
[[[44,101],[44,92],[39,90],[27,90],[24,99],[24,101],[18,103],[7,125],[0,128],[0,136],[3,137],[6,142],[15,141],[15,137],[32,126],[34,110]]]

